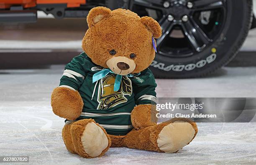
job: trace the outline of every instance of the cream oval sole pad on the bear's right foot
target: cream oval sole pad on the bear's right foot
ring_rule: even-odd
[[[188,122],[170,123],[159,133],[157,145],[165,153],[175,153],[191,142],[194,135],[195,130]]]

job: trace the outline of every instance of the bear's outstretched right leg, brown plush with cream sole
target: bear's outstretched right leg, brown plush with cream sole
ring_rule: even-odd
[[[173,119],[126,135],[128,148],[175,153],[188,145],[197,134],[197,125],[188,119]]]

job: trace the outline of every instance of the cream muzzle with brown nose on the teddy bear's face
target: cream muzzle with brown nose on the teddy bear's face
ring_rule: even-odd
[[[106,64],[115,74],[128,75],[135,70],[136,64],[133,60],[127,57],[112,57]]]

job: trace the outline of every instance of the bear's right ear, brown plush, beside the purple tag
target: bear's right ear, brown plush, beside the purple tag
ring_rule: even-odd
[[[154,38],[159,38],[162,35],[162,30],[159,23],[151,17],[142,17],[141,22],[152,32]]]

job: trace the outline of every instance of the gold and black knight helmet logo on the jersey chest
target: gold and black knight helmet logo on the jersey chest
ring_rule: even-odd
[[[125,95],[131,96],[133,88],[131,80],[125,75],[122,77],[120,88],[118,91],[114,91],[115,74],[108,75],[102,79],[103,91],[101,82],[98,89],[98,110],[114,107],[121,103],[127,102]]]

